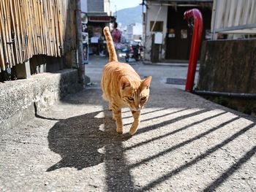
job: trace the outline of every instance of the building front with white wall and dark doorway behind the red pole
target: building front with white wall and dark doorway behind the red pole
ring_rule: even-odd
[[[189,59],[192,29],[184,12],[197,8],[203,15],[203,38],[211,31],[211,0],[173,1],[148,0],[145,15],[146,61],[187,61]],[[157,39],[157,44],[155,44]]]

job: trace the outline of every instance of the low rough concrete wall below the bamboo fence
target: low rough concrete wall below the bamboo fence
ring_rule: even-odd
[[[26,80],[0,84],[0,135],[18,123],[34,118],[69,93],[82,89],[76,69],[33,75]]]

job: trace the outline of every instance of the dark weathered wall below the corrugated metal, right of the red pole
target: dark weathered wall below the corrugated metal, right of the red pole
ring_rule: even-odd
[[[256,39],[203,42],[197,88],[256,93]]]

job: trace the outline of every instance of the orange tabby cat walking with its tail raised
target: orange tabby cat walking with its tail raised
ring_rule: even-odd
[[[141,80],[132,66],[119,63],[109,28],[105,27],[103,31],[108,45],[109,63],[105,65],[102,72],[102,97],[109,101],[109,110],[113,111],[113,119],[116,120],[116,131],[119,134],[124,131],[121,108],[129,107],[134,118],[129,134],[133,135],[140,123],[140,110],[148,101],[149,85],[152,77],[149,76],[145,80]]]

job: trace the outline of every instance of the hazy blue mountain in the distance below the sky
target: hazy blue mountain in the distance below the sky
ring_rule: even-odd
[[[113,15],[116,15],[116,12]],[[138,5],[137,7],[118,10],[116,20],[122,26],[128,26],[132,23],[142,24],[142,7]]]

